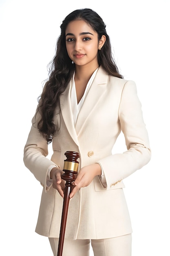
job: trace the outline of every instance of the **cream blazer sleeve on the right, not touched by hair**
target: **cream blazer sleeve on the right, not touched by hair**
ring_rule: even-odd
[[[98,161],[106,178],[106,189],[113,187],[150,161],[148,132],[141,103],[133,81],[126,81],[119,105],[119,121],[126,140],[127,151]]]

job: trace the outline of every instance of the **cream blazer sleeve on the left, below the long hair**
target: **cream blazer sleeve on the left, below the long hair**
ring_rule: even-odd
[[[48,169],[51,165],[57,165],[50,159],[46,158],[48,155],[48,144],[37,128],[39,118],[40,113],[36,111],[36,114],[32,119],[31,130],[24,147],[23,160],[25,166],[31,171],[31,173],[33,173],[45,190],[49,190],[50,186],[49,184],[46,184]]]

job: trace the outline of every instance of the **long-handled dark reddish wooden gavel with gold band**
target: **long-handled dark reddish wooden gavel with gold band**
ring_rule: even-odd
[[[62,175],[62,179],[66,181],[66,184],[64,189],[64,201],[62,208],[62,219],[57,256],[62,256],[68,214],[68,204],[70,200],[69,195],[71,193],[72,184],[75,181],[75,174],[77,174],[79,164],[79,162],[77,161],[77,158],[79,158],[79,153],[74,151],[66,151],[64,155],[66,156],[66,159],[64,160],[64,173]]]

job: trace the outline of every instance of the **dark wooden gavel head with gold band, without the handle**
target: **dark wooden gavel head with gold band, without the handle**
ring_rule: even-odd
[[[74,151],[66,151],[64,154],[66,156],[66,159],[64,160],[64,167],[62,175],[62,179],[68,183],[69,186],[72,185],[72,182],[75,180],[75,174],[78,170],[78,164],[77,158],[79,158],[79,153]]]

